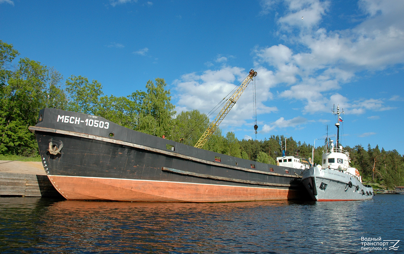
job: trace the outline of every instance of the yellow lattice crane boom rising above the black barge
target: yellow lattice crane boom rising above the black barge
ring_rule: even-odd
[[[243,93],[244,89],[246,89],[248,83],[252,81],[252,78],[257,76],[257,72],[254,70],[250,70],[250,73],[244,79],[243,83],[238,87],[238,89],[231,95],[231,97],[227,100],[226,104],[223,106],[219,114],[216,116],[215,120],[209,124],[209,127],[205,130],[204,134],[200,137],[198,142],[196,142],[195,147],[202,148],[206,141],[210,138],[210,136],[215,132],[219,124],[225,118],[227,113],[229,113],[230,109],[236,104],[238,98],[240,98],[241,94]]]

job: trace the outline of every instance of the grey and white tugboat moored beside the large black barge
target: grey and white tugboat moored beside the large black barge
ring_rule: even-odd
[[[316,165],[303,171],[302,183],[315,201],[343,201],[365,200],[375,195],[373,188],[362,184],[362,177],[358,169],[349,167],[349,152],[343,150],[339,143],[339,126],[342,122],[341,114],[334,110],[332,114],[338,116],[337,144],[331,140],[330,149],[326,149],[322,155],[322,165]]]

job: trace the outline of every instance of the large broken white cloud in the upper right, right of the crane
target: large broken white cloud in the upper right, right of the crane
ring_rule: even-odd
[[[345,105],[349,114],[393,109],[383,99],[349,102],[338,91],[356,78],[358,72],[404,64],[403,4],[360,0],[365,16],[356,27],[327,31],[321,24],[323,17],[330,15],[327,11],[332,2],[285,0],[283,3],[286,10],[277,12],[276,17],[286,43],[254,50],[256,64],[274,68],[273,87],[288,85],[279,91],[280,97],[301,101],[302,111],[310,114],[328,112],[330,105],[337,103]],[[279,4],[280,1],[262,1],[263,13],[275,10]],[[299,52],[294,52],[288,43]]]

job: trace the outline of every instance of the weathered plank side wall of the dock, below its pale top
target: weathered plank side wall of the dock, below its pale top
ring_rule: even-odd
[[[0,197],[63,198],[45,175],[0,173]]]

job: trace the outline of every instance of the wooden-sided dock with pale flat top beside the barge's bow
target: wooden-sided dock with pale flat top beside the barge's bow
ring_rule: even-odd
[[[63,198],[49,181],[41,162],[2,161],[0,198],[10,196]]]

